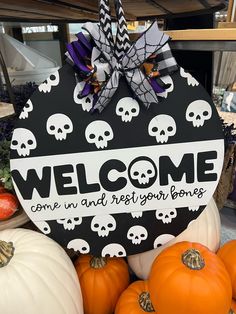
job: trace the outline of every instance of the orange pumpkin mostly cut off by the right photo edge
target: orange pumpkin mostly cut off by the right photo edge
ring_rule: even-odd
[[[236,240],[226,242],[218,250],[217,255],[223,261],[229,273],[233,288],[233,298],[236,299]]]

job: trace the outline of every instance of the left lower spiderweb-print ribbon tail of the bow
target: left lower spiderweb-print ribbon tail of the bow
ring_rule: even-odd
[[[98,100],[93,107],[92,111],[98,110],[102,112],[102,110],[108,105],[112,96],[115,94],[120,80],[120,74],[118,71],[113,71],[110,79],[107,84],[103,86],[102,90],[98,93]]]

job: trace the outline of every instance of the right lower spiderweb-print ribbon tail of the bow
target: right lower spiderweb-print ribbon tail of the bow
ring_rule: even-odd
[[[132,88],[134,95],[139,98],[147,109],[151,103],[158,103],[155,91],[140,69],[127,71],[126,79]]]

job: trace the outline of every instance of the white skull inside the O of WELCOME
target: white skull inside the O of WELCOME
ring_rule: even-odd
[[[148,160],[139,160],[130,168],[130,176],[133,180],[138,180],[139,184],[148,184],[149,180],[155,176],[153,164]]]

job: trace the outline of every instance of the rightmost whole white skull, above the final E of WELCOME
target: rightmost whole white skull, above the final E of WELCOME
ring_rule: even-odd
[[[186,110],[186,120],[192,122],[194,127],[203,126],[212,115],[210,104],[205,100],[195,100],[189,104]]]

